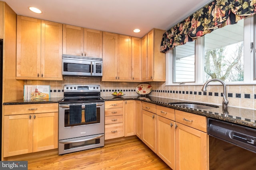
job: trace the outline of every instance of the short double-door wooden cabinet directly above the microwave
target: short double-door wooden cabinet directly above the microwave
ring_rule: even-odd
[[[63,54],[102,58],[102,31],[64,24]]]

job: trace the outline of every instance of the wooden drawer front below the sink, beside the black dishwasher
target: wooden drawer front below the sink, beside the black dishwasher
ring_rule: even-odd
[[[175,110],[175,120],[176,122],[179,122],[184,125],[198,129],[200,131],[206,132],[207,121],[206,121],[206,117],[204,116],[196,115],[193,113],[188,113],[180,110]]]

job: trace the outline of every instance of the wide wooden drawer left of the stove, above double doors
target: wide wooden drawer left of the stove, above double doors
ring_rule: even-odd
[[[4,115],[58,112],[58,103],[4,105]]]

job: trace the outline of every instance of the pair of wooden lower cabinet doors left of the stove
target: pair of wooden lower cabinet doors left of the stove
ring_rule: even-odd
[[[58,148],[58,112],[4,116],[4,157]]]

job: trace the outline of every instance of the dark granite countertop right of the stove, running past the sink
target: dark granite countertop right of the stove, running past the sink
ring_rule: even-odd
[[[228,112],[222,111],[222,105],[216,105],[219,106],[218,108],[212,108],[212,109],[192,109],[188,107],[180,107],[175,106],[172,103],[176,102],[190,102],[191,101],[185,101],[185,100],[177,100],[177,99],[170,99],[170,98],[162,98],[162,97],[155,97],[155,96],[122,96],[122,97],[114,97],[114,96],[101,96],[105,101],[108,100],[141,100],[144,102],[149,102],[152,104],[156,104],[159,106],[169,107],[181,111],[186,111],[189,113],[194,113],[197,115],[202,115],[206,117],[211,117],[223,121],[227,121],[230,123],[235,123],[238,125],[243,125],[246,127],[252,127],[256,129],[256,110],[254,109],[247,109],[247,108],[240,108],[240,107],[231,107],[228,106]],[[195,103],[202,103],[202,102],[195,102]]]

